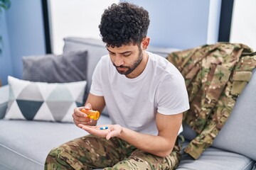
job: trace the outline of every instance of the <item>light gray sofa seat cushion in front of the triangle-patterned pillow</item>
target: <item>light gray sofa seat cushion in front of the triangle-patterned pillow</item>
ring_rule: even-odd
[[[98,125],[110,123],[105,115],[98,120]],[[50,149],[83,135],[87,132],[74,123],[0,120],[0,165],[8,165],[9,169],[43,169]]]

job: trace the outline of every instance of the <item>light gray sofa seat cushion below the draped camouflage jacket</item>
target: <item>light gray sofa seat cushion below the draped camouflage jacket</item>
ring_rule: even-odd
[[[188,145],[188,142],[184,146]],[[255,161],[237,154],[215,147],[208,147],[199,159],[193,159],[188,154],[182,154],[181,163],[177,170],[249,170],[252,169]]]

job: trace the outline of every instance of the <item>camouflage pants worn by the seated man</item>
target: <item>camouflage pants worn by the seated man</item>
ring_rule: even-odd
[[[46,169],[175,169],[181,159],[176,145],[168,157],[142,152],[118,137],[110,140],[87,135],[52,149],[46,158]]]

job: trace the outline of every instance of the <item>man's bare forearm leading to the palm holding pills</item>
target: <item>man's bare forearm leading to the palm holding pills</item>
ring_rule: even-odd
[[[167,157],[174,148],[176,141],[176,137],[172,140],[167,140],[159,135],[146,135],[127,128],[122,128],[119,138],[144,152],[149,152],[159,157]]]

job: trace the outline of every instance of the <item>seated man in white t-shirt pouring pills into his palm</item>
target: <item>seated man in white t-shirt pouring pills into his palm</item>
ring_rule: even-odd
[[[188,95],[178,69],[146,52],[149,13],[128,3],[102,14],[100,34],[108,55],[92,76],[87,110],[107,106],[113,125],[96,125],[75,108],[75,125],[91,135],[53,149],[45,169],[175,169],[182,113]],[[108,129],[100,130],[107,126]]]

